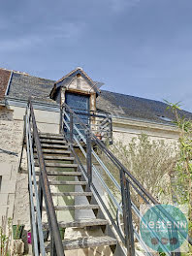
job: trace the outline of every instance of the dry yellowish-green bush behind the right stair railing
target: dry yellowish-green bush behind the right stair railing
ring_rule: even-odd
[[[166,144],[164,140],[150,140],[147,135],[141,134],[133,138],[130,144],[117,141],[109,147],[127,170],[157,200],[162,199],[163,195],[169,195],[168,200],[172,200],[171,176],[177,162],[176,144]],[[112,176],[119,182],[119,171],[104,154],[101,157]],[[105,178],[107,179],[107,176]],[[166,185],[164,179],[166,179]],[[107,182],[110,188],[114,190],[112,181],[108,180]]]

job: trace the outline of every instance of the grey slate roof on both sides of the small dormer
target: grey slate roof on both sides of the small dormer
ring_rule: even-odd
[[[16,99],[25,100],[29,96],[33,96],[36,101],[55,104],[55,101],[49,98],[49,93],[54,83],[55,80],[40,79],[22,73],[14,73],[8,95]],[[160,101],[106,90],[101,90],[101,94],[97,97],[97,109],[99,111],[109,112],[112,115],[125,118],[172,124],[171,120],[175,116],[171,111],[166,111],[166,108],[167,104]],[[192,113],[190,112],[182,111],[180,114],[192,119]]]

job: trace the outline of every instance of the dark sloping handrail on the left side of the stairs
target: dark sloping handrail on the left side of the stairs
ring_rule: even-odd
[[[48,183],[48,174],[46,170],[46,164],[44,160],[44,155],[42,151],[42,146],[39,138],[37,123],[35,119],[35,114],[33,110],[33,104],[31,98],[28,101],[28,108],[30,109],[30,117],[32,120],[33,127],[33,139],[37,148],[37,155],[40,167],[39,176],[39,200],[41,213],[43,210],[43,198],[45,199],[46,211],[48,215],[48,227],[50,231],[51,241],[50,241],[50,255],[64,256],[64,248],[62,240],[59,233],[58,223],[56,219],[56,214],[53,206],[53,201],[50,193],[50,187]]]

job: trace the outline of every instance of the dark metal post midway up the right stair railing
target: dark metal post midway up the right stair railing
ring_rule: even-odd
[[[87,167],[87,176],[88,184],[92,183],[92,159],[91,159],[91,136],[90,131],[86,133],[86,167]]]

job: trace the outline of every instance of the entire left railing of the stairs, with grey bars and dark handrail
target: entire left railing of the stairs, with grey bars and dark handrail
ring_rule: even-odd
[[[43,228],[42,228],[42,211],[43,199],[45,201],[47,216],[48,216],[48,229],[50,233],[50,255],[51,256],[64,256],[64,249],[62,240],[59,233],[58,223],[54,211],[50,188],[48,184],[48,175],[46,171],[46,164],[38,128],[36,124],[35,114],[31,99],[29,99],[28,106],[25,114],[25,134],[26,150],[27,150],[27,164],[28,164],[28,177],[29,177],[29,200],[30,200],[30,218],[31,218],[31,233],[33,255],[46,255]],[[39,185],[36,181],[35,173],[35,160],[34,150],[36,148],[40,174]]]

